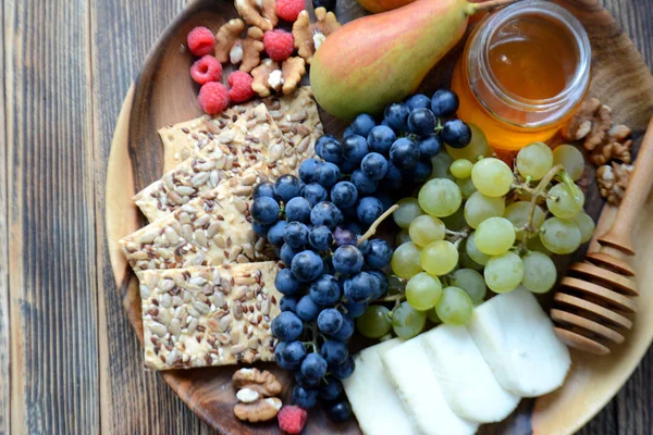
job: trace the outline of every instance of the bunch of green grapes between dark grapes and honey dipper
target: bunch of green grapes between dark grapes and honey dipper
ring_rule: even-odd
[[[427,319],[467,323],[488,288],[551,290],[557,278],[551,257],[592,237],[594,222],[575,184],[584,167],[580,151],[531,144],[513,170],[485,157],[482,133],[472,132],[467,149],[447,148],[432,159],[431,179],[393,214],[401,231],[391,264],[406,283],[406,301],[389,322],[399,337],[419,334]]]

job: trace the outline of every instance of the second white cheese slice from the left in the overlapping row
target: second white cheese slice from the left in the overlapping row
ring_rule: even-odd
[[[426,435],[473,434],[478,424],[458,417],[446,403],[421,336],[381,356],[406,411]]]

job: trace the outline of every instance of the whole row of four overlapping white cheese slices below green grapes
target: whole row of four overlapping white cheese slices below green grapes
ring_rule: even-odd
[[[345,391],[364,433],[467,435],[505,419],[520,397],[559,387],[570,358],[520,287],[477,307],[467,326],[382,343],[361,351],[356,365]]]

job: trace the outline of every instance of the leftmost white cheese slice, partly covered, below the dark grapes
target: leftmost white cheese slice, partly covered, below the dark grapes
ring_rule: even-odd
[[[395,338],[361,350],[354,357],[354,374],[343,381],[345,393],[364,434],[419,434],[381,363],[380,353],[401,343],[402,340]]]

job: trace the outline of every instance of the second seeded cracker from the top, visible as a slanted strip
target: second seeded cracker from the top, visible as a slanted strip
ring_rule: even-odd
[[[281,130],[263,104],[161,179],[136,194],[134,201],[150,222],[163,217],[218,184],[266,159],[269,149],[283,147]]]

